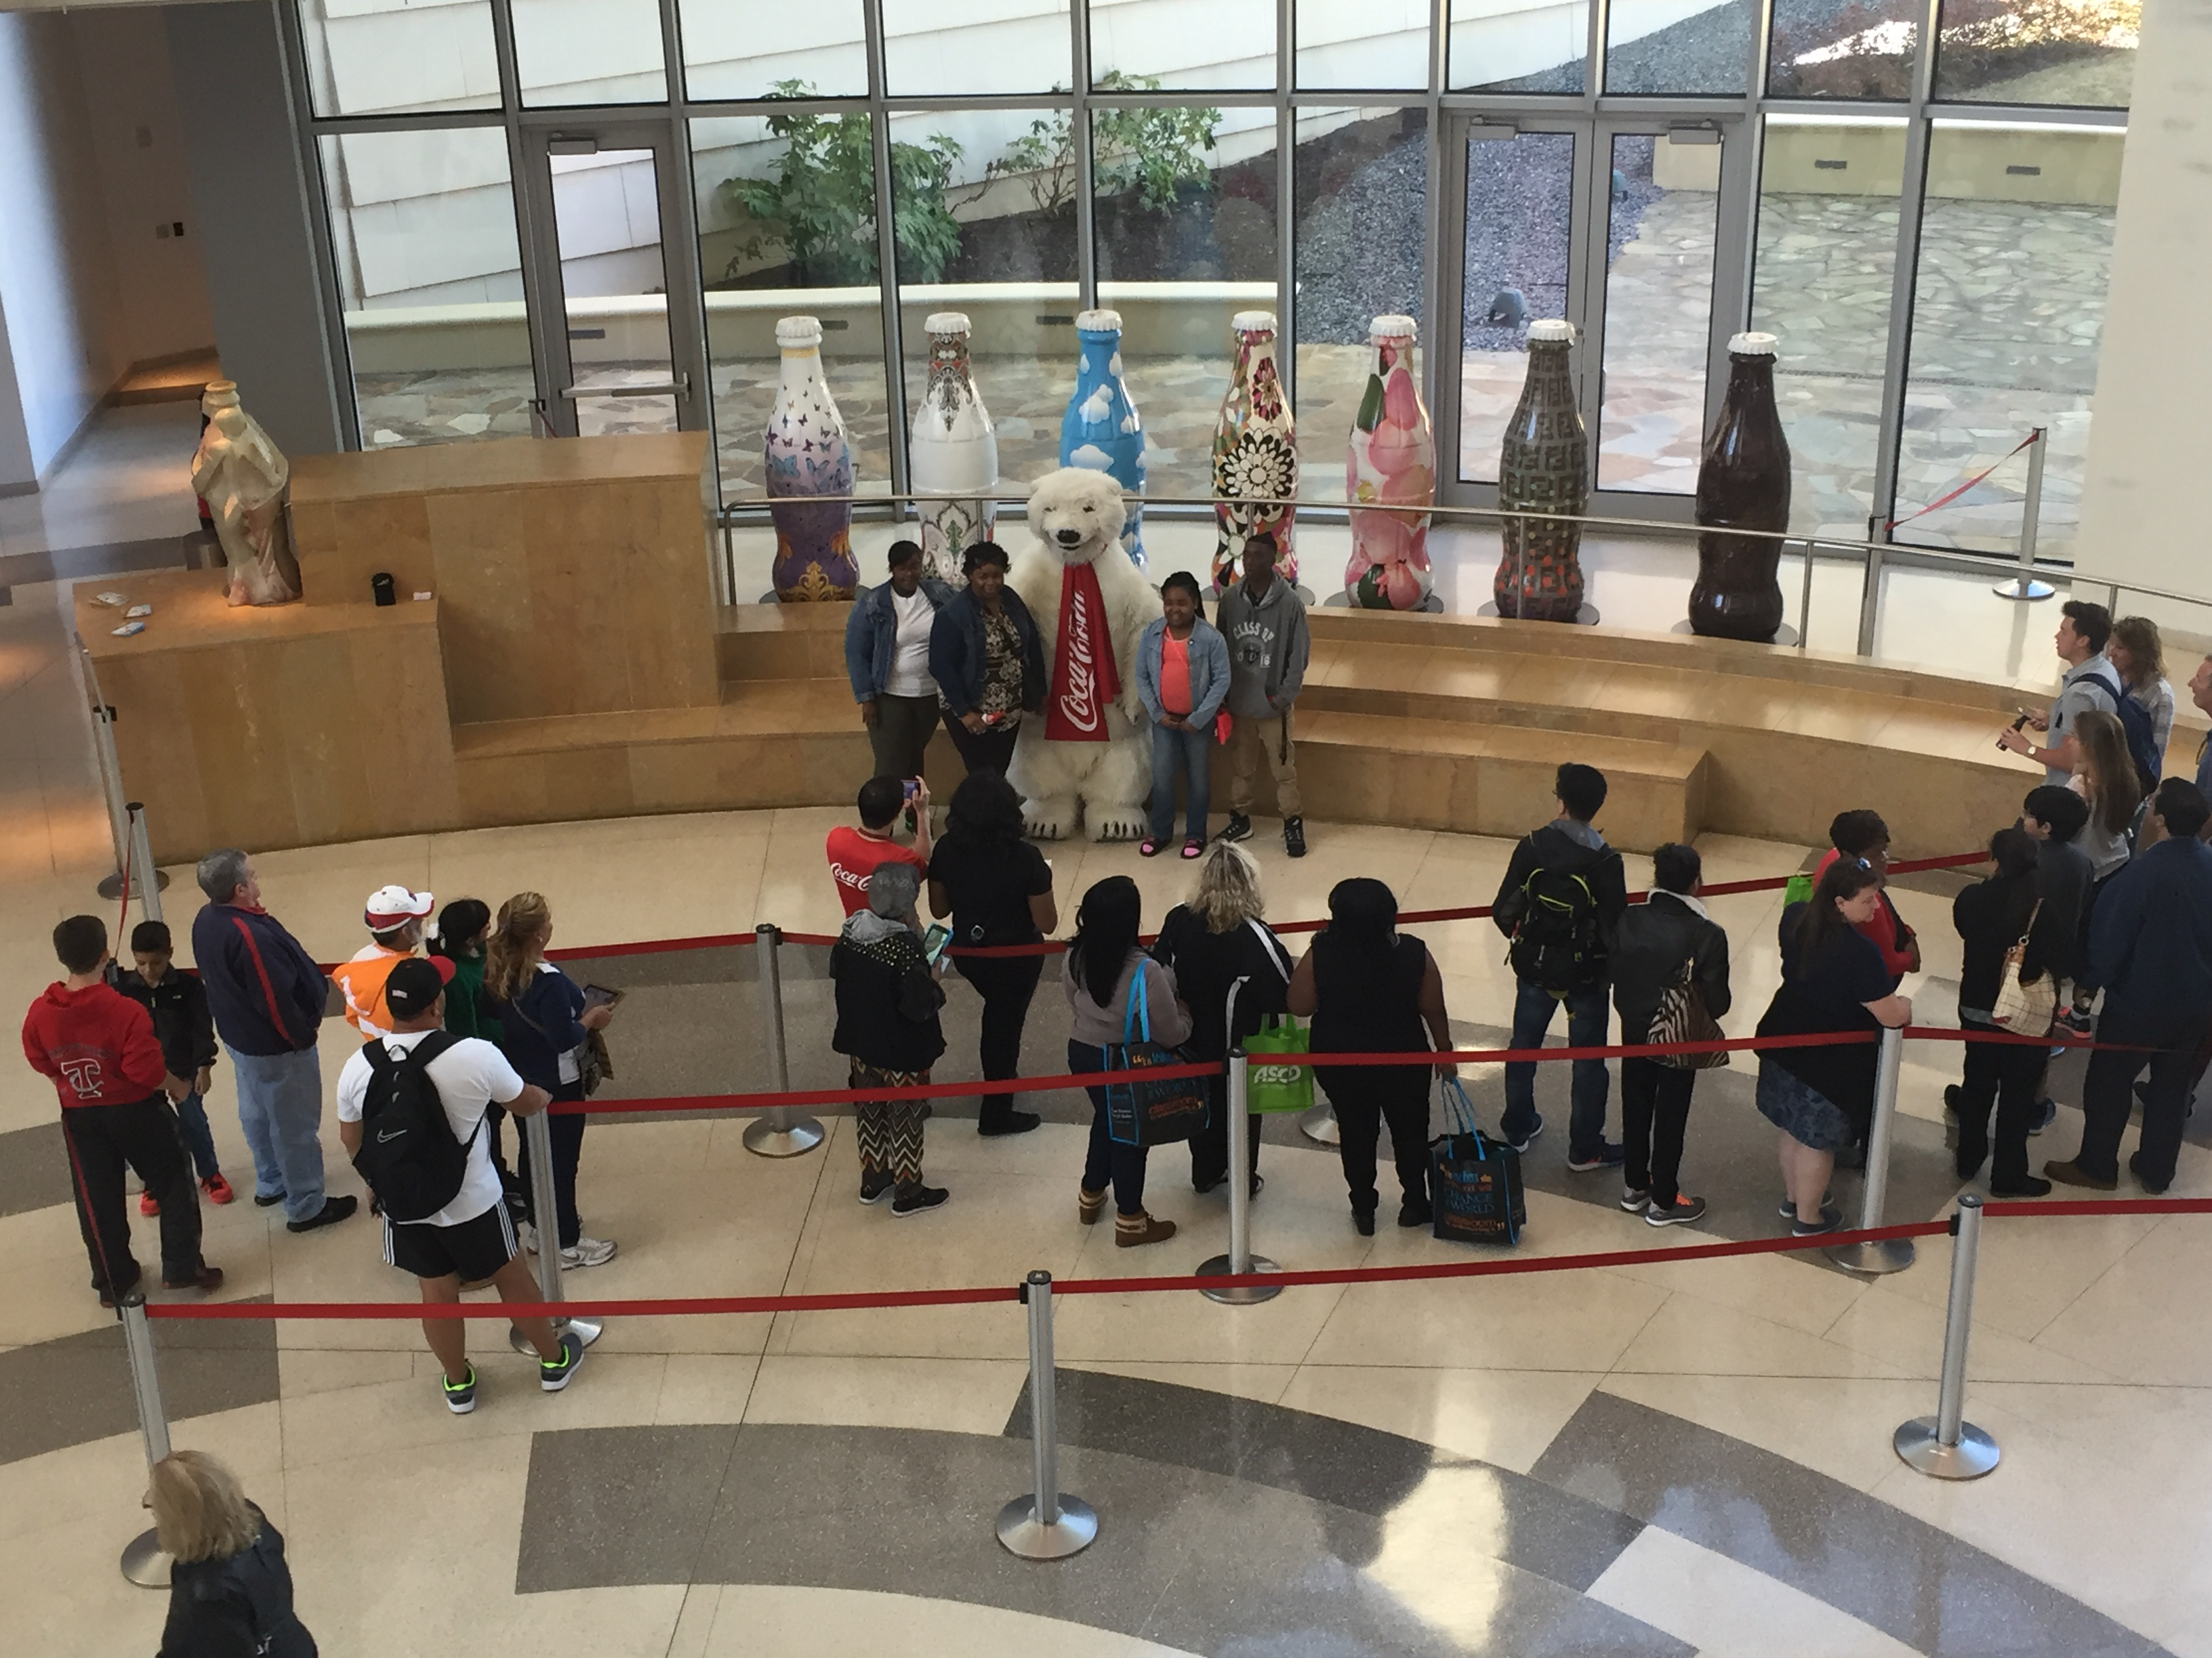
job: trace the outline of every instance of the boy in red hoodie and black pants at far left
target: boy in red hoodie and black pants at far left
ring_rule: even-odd
[[[161,1282],[212,1291],[223,1273],[199,1258],[199,1194],[177,1119],[161,1099],[168,1066],[153,1019],[106,982],[108,928],[97,915],[55,926],[53,953],[69,977],[49,984],[24,1015],[22,1054],[62,1096],[77,1225],[100,1304],[115,1307],[139,1280],[124,1209],[126,1163],[161,1205]]]

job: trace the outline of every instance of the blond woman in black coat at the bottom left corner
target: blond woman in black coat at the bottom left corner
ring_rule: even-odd
[[[201,1450],[175,1450],[148,1475],[168,1574],[159,1658],[316,1658],[292,1616],[283,1534],[246,1501],[239,1479]]]

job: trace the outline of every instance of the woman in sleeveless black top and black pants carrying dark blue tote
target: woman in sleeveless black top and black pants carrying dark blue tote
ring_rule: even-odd
[[[1451,1050],[1444,977],[1418,937],[1398,931],[1398,898],[1378,880],[1340,880],[1329,891],[1329,924],[1290,975],[1292,1012],[1312,1015],[1316,1054],[1398,1054]],[[1343,1134],[1352,1225],[1376,1229],[1376,1145],[1389,1123],[1398,1163],[1400,1227],[1429,1225],[1429,1066],[1316,1066],[1314,1079],[1336,1108]],[[1458,1077],[1449,1059],[1436,1074]]]

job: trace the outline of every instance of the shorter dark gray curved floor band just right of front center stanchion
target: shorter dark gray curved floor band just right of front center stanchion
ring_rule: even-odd
[[[1577,1594],[1644,1530],[1555,1486],[1336,1417],[1093,1371],[1062,1371],[1057,1393],[1064,1446],[1181,1463],[1376,1519],[1396,1512],[1433,1468],[1482,1468],[1498,1503],[1498,1559]],[[1026,1386],[1006,1437],[1029,1439]]]

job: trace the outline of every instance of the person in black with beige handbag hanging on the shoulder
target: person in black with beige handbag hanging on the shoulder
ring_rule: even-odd
[[[1997,1030],[1991,1008],[2004,982],[2004,955],[2028,942],[2020,964],[2022,984],[2044,977],[2044,928],[2037,904],[2037,844],[2024,829],[2000,829],[1989,838],[1997,873],[1951,900],[1951,924],[1964,942],[1958,970],[1958,1024],[1964,1030]],[[2015,1035],[2044,1037],[2044,1030]],[[2037,1090],[2048,1050],[2042,1043],[1966,1041],[1966,1081],[1947,1088],[1944,1105],[1958,1116],[1958,1178],[1971,1180],[1989,1156],[1989,1108],[1997,1108],[1997,1161],[1989,1189],[2000,1198],[2042,1198],[2051,1183],[2028,1174],[2028,1130],[2035,1127]]]

